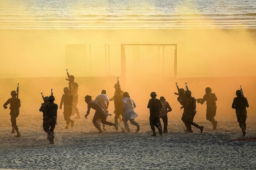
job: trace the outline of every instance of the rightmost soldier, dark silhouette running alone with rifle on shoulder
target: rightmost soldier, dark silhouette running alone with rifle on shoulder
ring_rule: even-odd
[[[247,99],[243,96],[241,90],[236,91],[236,96],[232,103],[232,108],[236,109],[236,118],[237,122],[239,123],[240,128],[242,129],[243,136],[246,135],[246,118],[247,118],[247,111],[246,107],[249,107]]]

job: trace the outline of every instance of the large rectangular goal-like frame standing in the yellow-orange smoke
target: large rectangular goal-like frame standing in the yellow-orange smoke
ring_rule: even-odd
[[[158,46],[158,70],[160,68],[160,47],[163,48],[163,61],[164,61],[164,47],[175,46],[174,49],[174,78],[177,78],[177,44],[121,44],[121,76],[126,84],[126,62],[125,62],[125,48],[124,46]],[[163,70],[164,71],[164,62]]]

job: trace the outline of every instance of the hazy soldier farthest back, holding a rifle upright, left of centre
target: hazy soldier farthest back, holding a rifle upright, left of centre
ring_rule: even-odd
[[[68,87],[70,89],[70,94],[72,95],[73,97],[73,107],[74,107],[74,110],[76,112],[76,118],[80,118],[80,115],[79,115],[79,110],[77,108],[77,103],[78,103],[78,84],[74,81],[75,80],[75,76],[73,75],[70,75],[68,78],[66,78],[66,80],[69,81],[68,83]],[[72,114],[72,116],[75,115]]]

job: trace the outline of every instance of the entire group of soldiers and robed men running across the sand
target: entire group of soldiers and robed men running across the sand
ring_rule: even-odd
[[[63,116],[66,121],[66,127],[65,129],[69,128],[69,125],[71,128],[74,127],[74,120],[71,120],[71,116],[76,114],[76,118],[80,118],[79,110],[77,108],[77,102],[78,102],[78,84],[74,81],[74,76],[69,76],[68,85],[69,87],[64,87],[63,91],[64,94],[61,97],[60,102],[60,109],[62,109],[62,106],[64,105],[63,110]],[[177,83],[176,83],[177,85]],[[95,114],[92,119],[93,125],[98,129],[100,133],[103,133],[103,131],[106,130],[105,125],[113,126],[116,130],[118,130],[118,119],[119,122],[124,122],[124,129],[121,128],[123,131],[130,132],[130,128],[128,126],[128,120],[131,122],[132,125],[136,126],[136,132],[140,130],[140,125],[138,122],[135,122],[135,118],[138,116],[138,114],[135,112],[134,108],[136,107],[136,104],[134,100],[131,99],[128,92],[124,92],[121,90],[121,86],[119,83],[119,80],[117,78],[117,83],[114,86],[115,93],[114,96],[111,99],[108,99],[108,96],[106,95],[106,90],[102,90],[101,94],[99,94],[95,100],[92,100],[92,96],[86,95],[85,96],[85,102],[87,103],[88,110],[86,112],[85,118],[90,114],[91,108],[95,110]],[[188,86],[186,84],[186,90],[183,88],[178,88],[178,93],[175,93],[178,95],[178,101],[181,105],[180,109],[183,110],[183,114],[181,117],[181,120],[183,121],[186,129],[185,132],[193,133],[193,130],[191,128],[192,126],[195,126],[197,129],[200,130],[200,132],[203,132],[204,127],[196,124],[194,122],[194,117],[196,115],[196,101],[197,103],[204,104],[206,101],[206,119],[210,122],[212,122],[213,129],[215,130],[217,128],[217,121],[214,119],[216,115],[216,101],[217,97],[214,93],[212,93],[212,89],[210,87],[206,87],[205,89],[205,95],[202,99],[195,99],[192,97],[192,93],[190,90],[188,90]],[[16,137],[20,137],[20,132],[18,129],[18,126],[16,124],[16,118],[19,116],[20,113],[20,99],[18,98],[19,95],[19,86],[17,88],[17,91],[12,91],[11,96],[12,98],[8,99],[4,103],[4,108],[8,108],[7,105],[10,104],[10,115],[11,115],[11,122],[12,122],[12,132],[11,133],[17,133]],[[43,95],[42,95],[43,96]],[[247,111],[246,107],[249,107],[247,99],[244,97],[242,88],[240,90],[236,91],[236,98],[234,98],[232,108],[236,109],[236,116],[237,116],[237,122],[239,122],[239,126],[242,129],[243,136],[246,135],[246,118],[247,118]],[[167,126],[168,126],[168,112],[172,111],[172,108],[170,107],[169,103],[165,100],[164,96],[160,97],[160,100],[157,99],[156,92],[151,92],[150,94],[151,99],[148,101],[148,108],[149,108],[149,124],[151,127],[151,130],[153,131],[153,134],[151,136],[156,136],[156,130],[155,127],[158,129],[158,132],[160,136],[164,136],[163,133],[167,133]],[[41,107],[39,109],[40,112],[43,112],[43,129],[47,133],[47,139],[49,140],[50,144],[54,144],[54,128],[57,125],[57,110],[58,105],[54,103],[55,97],[50,95],[49,97],[44,97],[44,103],[41,104]],[[108,116],[111,116],[111,114],[108,113],[108,106],[109,102],[114,100],[115,105],[115,122],[108,122]],[[160,122],[160,118],[164,122],[164,129],[162,130],[162,125]],[[102,129],[101,129],[102,124]]]

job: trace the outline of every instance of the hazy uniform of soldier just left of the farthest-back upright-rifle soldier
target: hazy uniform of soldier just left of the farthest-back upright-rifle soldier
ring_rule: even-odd
[[[63,94],[61,97],[60,106],[64,103],[63,116],[67,124],[69,124],[70,116],[72,115],[73,109],[73,97],[69,93]]]

